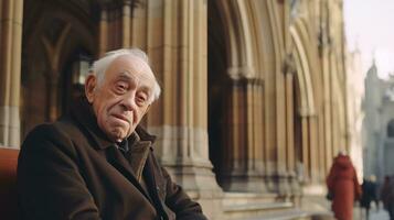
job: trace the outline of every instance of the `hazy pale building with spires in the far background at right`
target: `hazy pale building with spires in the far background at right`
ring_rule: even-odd
[[[380,183],[394,175],[394,76],[377,77],[375,63],[365,78],[363,102],[364,175],[375,175]]]

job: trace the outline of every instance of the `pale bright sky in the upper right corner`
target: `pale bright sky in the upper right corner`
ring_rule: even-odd
[[[381,78],[394,73],[394,0],[343,0],[350,51],[359,47],[364,74],[373,58]]]

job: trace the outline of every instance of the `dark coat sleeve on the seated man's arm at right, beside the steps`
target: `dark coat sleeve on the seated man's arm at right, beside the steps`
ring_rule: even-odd
[[[206,220],[201,206],[193,201],[181,186],[172,182],[164,168],[161,169],[167,182],[166,205],[175,212],[177,220]]]

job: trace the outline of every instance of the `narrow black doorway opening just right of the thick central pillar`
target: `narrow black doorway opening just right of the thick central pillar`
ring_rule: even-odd
[[[209,151],[216,180],[221,184],[225,152],[225,107],[230,79],[226,74],[227,61],[223,21],[216,1],[207,1],[207,94],[209,94]]]

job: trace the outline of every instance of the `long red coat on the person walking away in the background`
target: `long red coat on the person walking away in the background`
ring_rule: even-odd
[[[353,202],[361,196],[361,187],[349,156],[339,155],[327,177],[327,187],[333,193],[332,211],[338,220],[353,219]]]

